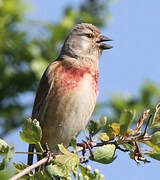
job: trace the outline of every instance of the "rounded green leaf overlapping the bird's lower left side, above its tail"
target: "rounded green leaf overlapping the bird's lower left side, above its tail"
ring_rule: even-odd
[[[22,131],[20,132],[22,140],[28,144],[37,144],[42,138],[42,129],[39,125],[39,121],[28,118],[25,120]]]

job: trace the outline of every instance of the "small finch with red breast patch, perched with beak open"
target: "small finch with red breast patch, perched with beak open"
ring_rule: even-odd
[[[112,46],[104,41],[99,29],[80,23],[68,34],[58,58],[51,63],[39,83],[32,119],[42,128],[41,144],[59,153],[58,144],[68,146],[85,129],[98,97],[99,58],[103,50]],[[29,145],[33,152],[35,145]],[[33,155],[28,155],[28,165]]]

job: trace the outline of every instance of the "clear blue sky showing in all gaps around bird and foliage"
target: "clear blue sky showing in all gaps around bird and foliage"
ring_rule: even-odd
[[[31,1],[30,1],[31,2]],[[30,18],[59,20],[61,9],[78,0],[57,1],[34,0]],[[110,3],[112,19],[102,32],[112,38],[114,48],[105,51],[100,60],[99,101],[108,99],[114,93],[139,94],[145,80],[160,84],[160,1],[121,0]],[[30,115],[28,115],[30,116]],[[15,144],[17,151],[27,151],[19,136],[19,129],[7,137]],[[95,165],[109,180],[151,180],[158,179],[160,163],[151,159],[151,164],[136,163],[127,153],[119,153],[109,165]],[[24,155],[16,155],[15,161],[25,161]]]

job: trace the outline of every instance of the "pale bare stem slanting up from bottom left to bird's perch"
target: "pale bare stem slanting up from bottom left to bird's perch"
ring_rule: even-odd
[[[53,159],[53,157],[50,157]],[[24,175],[28,174],[30,171],[32,171],[33,169],[41,166],[42,164],[45,164],[48,161],[48,157],[44,157],[43,159],[41,159],[40,161],[36,162],[35,164],[27,167],[26,169],[24,169],[23,171],[21,171],[20,173],[16,174],[15,176],[11,177],[9,180],[17,180],[21,177],[23,177]]]

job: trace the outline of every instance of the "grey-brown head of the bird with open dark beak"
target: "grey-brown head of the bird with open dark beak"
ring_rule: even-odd
[[[103,43],[111,41],[92,24],[81,23],[70,32],[62,47],[61,54],[71,57],[88,57],[98,59],[102,50],[110,49],[112,46]]]

